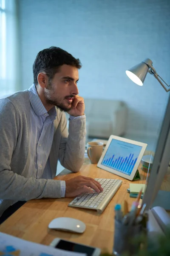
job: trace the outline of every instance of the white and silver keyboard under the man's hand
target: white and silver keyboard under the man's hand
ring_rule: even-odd
[[[111,180],[111,179],[95,179],[97,180],[103,188],[100,193],[95,192],[94,194],[83,193],[73,201],[71,201],[68,206],[80,207],[87,209],[94,209],[97,212],[102,213],[108,203],[113,198],[113,195],[117,192],[122,184],[122,180]]]

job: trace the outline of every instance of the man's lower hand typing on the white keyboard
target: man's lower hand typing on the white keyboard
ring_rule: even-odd
[[[86,192],[94,193],[93,189],[97,193],[103,191],[102,186],[98,181],[80,175],[70,180],[65,180],[65,184],[65,197],[73,197]]]

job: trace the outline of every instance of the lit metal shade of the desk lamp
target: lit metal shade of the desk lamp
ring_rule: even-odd
[[[126,70],[126,75],[136,84],[143,85],[149,67],[144,62]]]

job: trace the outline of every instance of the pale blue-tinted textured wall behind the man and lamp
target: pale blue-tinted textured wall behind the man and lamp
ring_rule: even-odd
[[[79,92],[89,98],[127,103],[127,132],[158,134],[166,93],[149,74],[143,87],[125,70],[144,58],[170,83],[170,0],[20,0],[23,89],[32,64],[47,47],[61,47],[80,58]]]

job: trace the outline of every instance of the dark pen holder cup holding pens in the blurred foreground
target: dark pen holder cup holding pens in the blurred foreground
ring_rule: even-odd
[[[139,250],[140,242],[135,242],[136,237],[141,235],[142,224],[125,225],[115,219],[113,254],[122,255],[128,252],[131,254]]]

